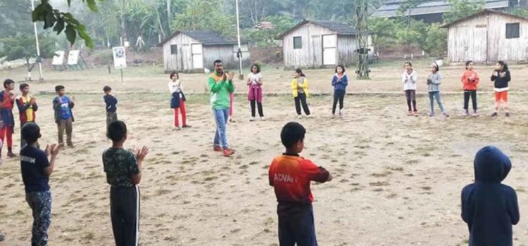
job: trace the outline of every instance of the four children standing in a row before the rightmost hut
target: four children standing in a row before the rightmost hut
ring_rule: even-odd
[[[442,76],[440,75],[440,67],[438,64],[433,63],[431,65],[431,73],[427,76],[427,91],[429,91],[430,111],[429,116],[434,116],[434,100],[438,103],[438,106],[442,112],[442,115],[449,117],[448,113],[444,109],[444,105],[441,101],[440,96],[440,84],[442,83]],[[465,71],[460,79],[463,84],[464,91],[464,115],[470,115],[469,102],[472,101],[472,115],[474,117],[479,116],[477,107],[477,88],[480,83],[480,77],[477,71],[473,67],[473,62],[468,60],[465,63]],[[491,74],[491,81],[494,82],[495,91],[495,111],[491,117],[498,115],[501,105],[505,111],[505,116],[509,117],[510,112],[508,110],[508,84],[511,80],[510,71],[508,65],[503,61],[498,61],[494,71]],[[416,108],[416,88],[418,83],[417,72],[413,70],[413,65],[410,62],[406,62],[404,65],[404,71],[401,79],[403,83],[403,91],[406,93],[408,115],[418,115]]]

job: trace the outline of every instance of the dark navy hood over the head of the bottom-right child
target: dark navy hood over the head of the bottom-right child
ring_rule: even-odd
[[[494,146],[479,150],[473,164],[475,182],[501,183],[512,169],[510,158]]]

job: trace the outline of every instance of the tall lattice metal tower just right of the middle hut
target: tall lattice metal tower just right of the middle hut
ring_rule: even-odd
[[[370,51],[368,39],[368,24],[367,24],[367,15],[368,15],[368,0],[356,0],[356,32],[358,32],[358,53],[356,75],[358,79],[370,79],[368,68],[368,52]]]

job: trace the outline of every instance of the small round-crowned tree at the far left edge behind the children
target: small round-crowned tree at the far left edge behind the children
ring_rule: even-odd
[[[41,36],[39,38],[40,57],[37,61],[30,64],[30,59],[37,55],[37,46],[35,46],[34,36],[30,34],[18,34],[14,37],[0,39],[4,44],[4,50],[0,51],[0,57],[6,56],[6,60],[24,59],[27,67],[27,74],[31,80],[31,70],[41,58],[53,58],[55,53],[55,41],[50,37]]]

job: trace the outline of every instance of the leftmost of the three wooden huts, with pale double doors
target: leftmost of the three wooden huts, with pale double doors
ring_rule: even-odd
[[[165,72],[212,70],[217,59],[222,60],[227,69],[239,67],[237,41],[210,30],[178,31],[158,46],[163,46]],[[241,43],[241,51],[242,63],[249,66],[251,59],[247,41]]]

